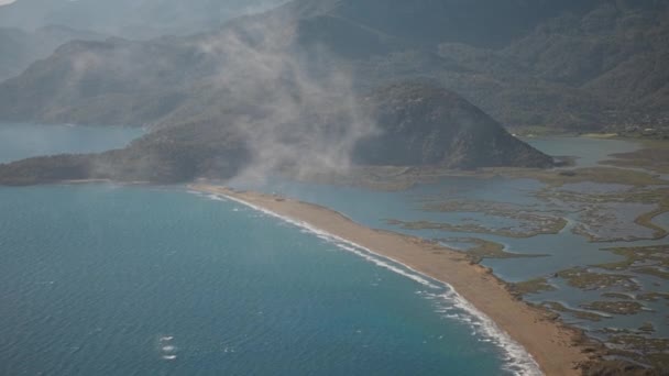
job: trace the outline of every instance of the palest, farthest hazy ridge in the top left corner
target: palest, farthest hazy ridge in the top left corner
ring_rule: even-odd
[[[0,7],[0,25],[62,25],[128,38],[188,34],[266,10],[283,0],[19,0]]]

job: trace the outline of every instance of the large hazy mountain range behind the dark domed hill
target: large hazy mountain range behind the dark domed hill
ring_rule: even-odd
[[[507,126],[669,126],[666,0],[298,3],[317,14],[300,21],[322,35],[314,44],[354,60],[359,77],[375,84],[431,77]],[[351,38],[364,42],[357,56],[333,37],[347,24],[366,31]]]

